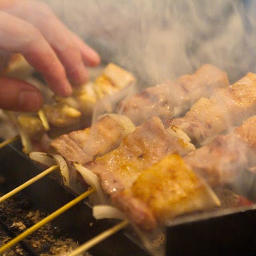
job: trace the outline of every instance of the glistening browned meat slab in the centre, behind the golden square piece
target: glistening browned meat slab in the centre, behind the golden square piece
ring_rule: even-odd
[[[186,155],[193,150],[185,139],[165,129],[161,119],[152,117],[126,135],[117,149],[97,157],[86,167],[99,176],[103,190],[111,195],[130,187],[145,169],[165,155]]]

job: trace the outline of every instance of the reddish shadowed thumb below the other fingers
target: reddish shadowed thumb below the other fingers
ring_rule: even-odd
[[[42,105],[43,97],[33,85],[9,77],[0,77],[1,109],[32,112]]]

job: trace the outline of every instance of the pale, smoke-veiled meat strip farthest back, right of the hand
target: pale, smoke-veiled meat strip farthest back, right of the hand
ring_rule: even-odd
[[[149,87],[121,103],[121,113],[136,125],[154,115],[165,119],[184,113],[199,97],[207,97],[216,88],[229,85],[227,74],[210,64],[201,66],[193,75],[177,81]]]

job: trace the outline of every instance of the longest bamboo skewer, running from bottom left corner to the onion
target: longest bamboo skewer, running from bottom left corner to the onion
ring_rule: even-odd
[[[28,235],[30,235],[31,233],[37,231],[37,229],[39,229],[40,227],[43,227],[43,225],[47,224],[49,221],[55,219],[55,217],[58,217],[59,215],[61,215],[61,213],[64,213],[65,211],[67,211],[69,208],[73,207],[74,205],[76,205],[77,203],[79,203],[80,201],[82,201],[83,199],[85,199],[85,197],[88,197],[88,195],[90,195],[91,193],[93,193],[95,191],[94,188],[89,189],[88,191],[86,191],[85,193],[79,195],[78,197],[76,197],[75,199],[73,199],[72,201],[70,201],[69,203],[67,203],[66,205],[64,205],[63,207],[57,209],[57,211],[51,213],[51,215],[48,215],[47,217],[45,217],[45,219],[42,219],[41,221],[39,221],[38,223],[36,223],[35,225],[33,225],[32,227],[30,227],[29,229],[27,229],[26,231],[24,231],[23,233],[21,233],[20,235],[18,235],[17,237],[15,237],[14,239],[12,239],[11,241],[9,241],[8,243],[6,243],[5,245],[3,245],[2,247],[0,247],[0,255],[1,253],[3,253],[4,251],[6,251],[7,249],[11,248],[13,245],[15,245],[16,243],[18,243],[19,241],[21,241],[22,239],[24,239],[25,237],[27,237]]]

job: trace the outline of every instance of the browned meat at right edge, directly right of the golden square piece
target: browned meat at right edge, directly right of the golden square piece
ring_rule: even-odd
[[[232,183],[239,172],[256,166],[256,116],[227,135],[190,152],[184,160],[211,185]]]

